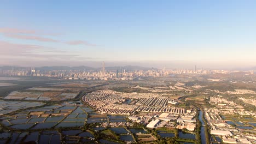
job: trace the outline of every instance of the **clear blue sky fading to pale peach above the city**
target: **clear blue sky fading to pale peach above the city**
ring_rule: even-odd
[[[1,1],[0,65],[256,66],[256,1]]]

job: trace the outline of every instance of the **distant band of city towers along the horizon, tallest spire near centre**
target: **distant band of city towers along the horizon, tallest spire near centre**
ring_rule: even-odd
[[[85,69],[80,70],[64,70],[60,69],[43,69],[43,68],[0,68],[0,75],[9,76],[47,76],[47,77],[60,77],[63,79],[86,79],[86,80],[133,80],[138,77],[163,77],[177,74],[229,74],[235,71],[229,70],[204,70],[197,69],[196,65],[193,70],[189,69],[149,69],[149,70],[127,70],[126,68],[117,68],[107,70],[105,63],[103,62],[102,68],[100,69]],[[249,71],[250,72],[250,71]]]

